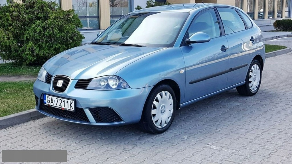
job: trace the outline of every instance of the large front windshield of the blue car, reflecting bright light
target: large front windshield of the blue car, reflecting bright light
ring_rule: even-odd
[[[125,15],[93,42],[172,47],[189,13],[150,12]]]

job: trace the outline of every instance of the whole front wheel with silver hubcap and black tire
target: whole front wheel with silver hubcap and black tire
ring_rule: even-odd
[[[151,91],[145,102],[140,127],[154,134],[165,132],[173,122],[175,110],[176,98],[172,88],[160,85]]]

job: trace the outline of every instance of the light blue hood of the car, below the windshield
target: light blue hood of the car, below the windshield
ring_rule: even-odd
[[[87,79],[113,75],[128,64],[165,48],[84,45],[49,59],[44,68],[53,76]]]

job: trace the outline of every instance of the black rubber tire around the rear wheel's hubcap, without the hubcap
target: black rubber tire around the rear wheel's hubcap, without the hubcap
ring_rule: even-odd
[[[250,84],[250,82],[249,82],[250,74],[249,73],[251,72],[251,69],[252,69],[253,65],[255,65],[255,64],[260,69],[260,80],[259,80],[259,83],[258,83],[258,87],[255,90],[251,90],[251,88],[249,87],[249,84]],[[247,75],[246,75],[246,78],[245,78],[244,85],[236,87],[236,90],[241,95],[245,95],[245,96],[255,95],[258,92],[259,88],[260,88],[261,81],[262,81],[262,67],[261,67],[260,62],[258,60],[253,60],[251,62],[251,65],[248,68],[248,72],[247,72]]]

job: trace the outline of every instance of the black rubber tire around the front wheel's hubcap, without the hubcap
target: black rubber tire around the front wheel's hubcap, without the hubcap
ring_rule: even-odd
[[[154,121],[152,120],[152,106],[155,108],[155,106],[153,105],[154,100],[156,100],[156,96],[159,93],[161,93],[162,91],[167,91],[171,95],[172,100],[173,100],[173,103],[172,103],[173,109],[172,109],[171,118],[168,121],[168,123],[164,127],[159,128],[154,124]],[[168,99],[168,100],[170,100],[170,99]],[[161,110],[159,110],[159,112],[163,111],[162,108],[163,107],[161,106]],[[164,109],[165,110],[164,110],[163,114],[165,114],[165,112],[167,111],[166,108],[164,108]],[[146,132],[153,133],[153,134],[159,134],[159,133],[165,132],[170,127],[171,123],[173,122],[173,118],[175,116],[175,111],[176,111],[176,98],[175,98],[175,93],[174,93],[173,89],[170,86],[164,85],[164,84],[157,86],[156,88],[154,88],[150,92],[150,94],[147,97],[147,100],[144,104],[144,109],[142,112],[141,120],[139,122],[140,128]],[[155,114],[153,114],[153,115],[155,116]]]

